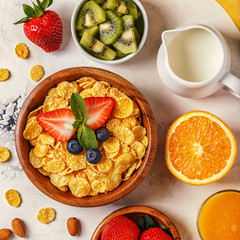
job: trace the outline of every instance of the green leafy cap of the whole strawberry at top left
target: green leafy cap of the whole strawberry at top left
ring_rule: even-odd
[[[27,4],[23,4],[23,11],[27,15],[27,17],[22,18],[21,20],[15,22],[14,24],[26,23],[31,18],[41,17],[44,11],[51,6],[53,0],[37,0],[37,4],[33,3],[33,8]]]

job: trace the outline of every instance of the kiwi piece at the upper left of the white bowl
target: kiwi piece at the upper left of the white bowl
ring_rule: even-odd
[[[88,1],[82,6],[78,13],[76,30],[81,31],[105,21],[105,11],[94,1]]]

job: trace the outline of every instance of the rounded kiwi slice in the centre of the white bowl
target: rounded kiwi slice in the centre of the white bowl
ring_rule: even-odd
[[[112,10],[106,11],[107,21],[99,25],[100,40],[104,44],[113,44],[123,32],[123,20]]]

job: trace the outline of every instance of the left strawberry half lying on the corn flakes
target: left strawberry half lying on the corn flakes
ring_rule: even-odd
[[[45,131],[59,142],[68,141],[76,131],[72,126],[75,119],[69,109],[41,113],[37,116],[37,121]]]

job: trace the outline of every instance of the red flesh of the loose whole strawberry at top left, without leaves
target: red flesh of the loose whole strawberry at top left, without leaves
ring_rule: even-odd
[[[59,15],[47,10],[41,17],[34,17],[23,26],[26,37],[45,52],[57,51],[62,44],[62,21]]]

